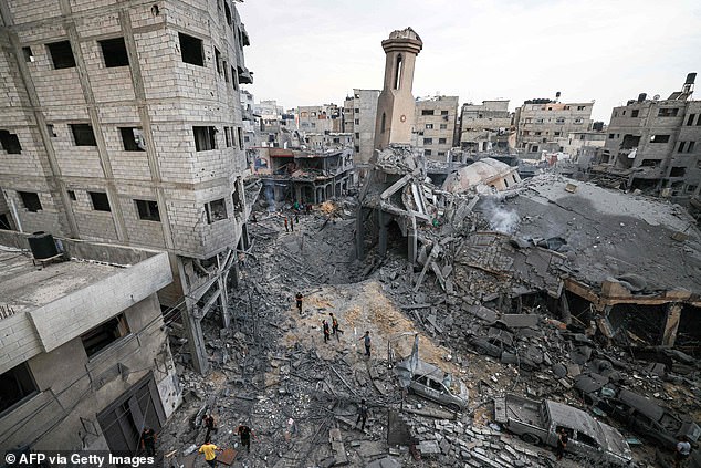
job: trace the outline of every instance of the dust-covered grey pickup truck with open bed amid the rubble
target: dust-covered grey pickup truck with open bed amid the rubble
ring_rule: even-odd
[[[620,433],[562,403],[506,394],[494,399],[494,419],[527,443],[552,447],[557,446],[557,433],[564,428],[569,437],[566,451],[586,457],[595,466],[632,464],[630,447]]]

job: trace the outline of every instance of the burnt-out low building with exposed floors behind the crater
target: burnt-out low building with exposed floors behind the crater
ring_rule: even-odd
[[[278,201],[321,204],[347,194],[353,181],[350,136],[324,135],[311,149],[252,148],[253,174],[263,184],[269,209]]]

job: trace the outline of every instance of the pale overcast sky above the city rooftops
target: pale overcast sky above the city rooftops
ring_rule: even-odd
[[[593,117],[645,92],[663,98],[699,72],[699,0],[245,0],[237,4],[255,101],[343,105],[381,89],[380,41],[411,27],[423,41],[414,96],[460,103],[595,100]]]

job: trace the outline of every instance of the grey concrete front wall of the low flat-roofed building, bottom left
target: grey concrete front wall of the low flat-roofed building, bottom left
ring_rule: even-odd
[[[75,337],[28,360],[39,392],[0,418],[0,449],[18,444],[40,450],[105,448],[97,413],[148,373],[166,415],[172,413],[181,397],[156,294],[124,314],[130,334],[91,357]]]

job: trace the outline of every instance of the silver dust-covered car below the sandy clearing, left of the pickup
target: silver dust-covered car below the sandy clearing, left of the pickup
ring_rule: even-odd
[[[423,361],[419,361],[408,391],[454,412],[468,407],[468,388],[462,381]]]

